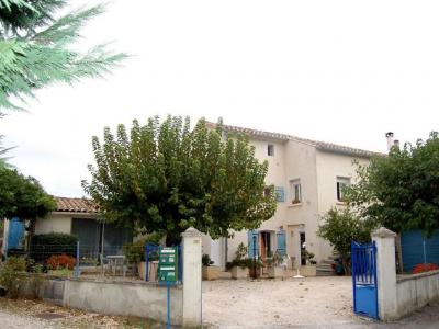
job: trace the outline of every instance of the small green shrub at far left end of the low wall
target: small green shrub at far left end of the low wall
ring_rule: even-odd
[[[26,261],[24,258],[9,257],[0,268],[0,285],[4,286],[11,298],[16,298],[20,292],[22,277],[19,272],[25,272]]]

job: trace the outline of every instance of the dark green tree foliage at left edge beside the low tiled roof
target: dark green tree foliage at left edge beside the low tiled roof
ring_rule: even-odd
[[[35,219],[55,209],[55,201],[40,183],[15,169],[0,169],[0,219]]]

